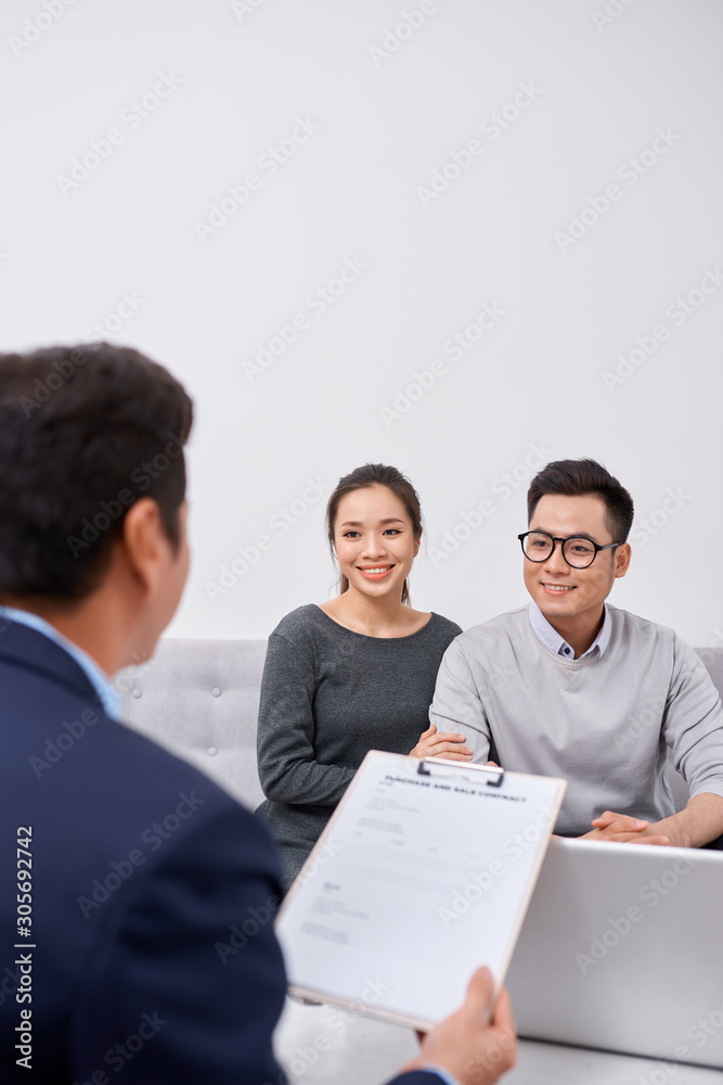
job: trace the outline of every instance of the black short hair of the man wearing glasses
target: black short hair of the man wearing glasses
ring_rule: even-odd
[[[596,460],[553,460],[540,471],[527,492],[527,523],[532,523],[538,501],[545,494],[599,497],[605,502],[607,529],[616,542],[625,542],[633,526],[633,499],[617,478]]]

